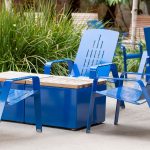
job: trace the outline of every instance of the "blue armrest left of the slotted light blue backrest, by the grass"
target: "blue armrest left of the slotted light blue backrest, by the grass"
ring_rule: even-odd
[[[63,62],[66,62],[68,64],[69,73],[71,73],[72,66],[73,66],[74,62],[71,59],[67,58],[67,59],[53,60],[53,61],[47,62],[44,65],[44,74],[50,74],[51,73],[52,65],[54,63],[63,63]]]

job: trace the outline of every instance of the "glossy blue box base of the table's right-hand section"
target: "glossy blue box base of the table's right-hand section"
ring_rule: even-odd
[[[105,85],[99,86],[100,90],[105,88]],[[91,87],[68,89],[42,86],[43,125],[69,129],[85,127],[90,93]],[[105,105],[105,97],[97,101],[92,124],[105,121]],[[25,123],[35,123],[32,98],[25,101]]]

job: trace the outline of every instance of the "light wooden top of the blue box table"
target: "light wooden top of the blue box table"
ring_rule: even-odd
[[[24,76],[38,76],[40,78],[40,85],[42,86],[52,86],[52,87],[62,87],[62,88],[83,88],[92,85],[93,80],[87,77],[66,77],[66,76],[54,76],[27,72],[16,72],[8,71],[0,73],[0,82],[3,82],[11,78],[19,78]],[[18,81],[21,84],[31,84],[32,80]],[[104,84],[105,80],[100,79],[99,84]]]

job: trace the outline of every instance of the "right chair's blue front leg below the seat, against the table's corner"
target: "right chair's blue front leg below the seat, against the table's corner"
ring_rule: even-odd
[[[90,133],[91,121],[92,121],[93,110],[94,110],[94,102],[95,102],[95,96],[92,95],[91,100],[90,100],[90,104],[89,104],[88,116],[87,116],[86,133]]]

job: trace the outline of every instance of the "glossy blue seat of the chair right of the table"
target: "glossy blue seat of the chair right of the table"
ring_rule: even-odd
[[[143,104],[146,102],[142,99],[142,91],[130,87],[112,88],[104,91],[96,91],[96,94],[105,95],[117,100],[126,101],[132,104]]]

